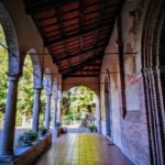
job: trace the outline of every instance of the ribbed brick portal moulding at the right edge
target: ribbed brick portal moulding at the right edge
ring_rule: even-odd
[[[156,7],[156,8],[155,8]],[[142,33],[142,72],[150,154],[153,164],[164,164],[165,134],[165,77],[160,63],[161,34],[165,22],[165,1],[152,0],[148,6]],[[165,66],[165,63],[163,64]]]

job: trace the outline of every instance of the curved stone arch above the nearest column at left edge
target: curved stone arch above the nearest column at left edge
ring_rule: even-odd
[[[7,48],[9,53],[8,72],[10,75],[19,74],[20,53],[19,53],[18,37],[12,19],[1,2],[0,2],[0,23],[6,34]]]

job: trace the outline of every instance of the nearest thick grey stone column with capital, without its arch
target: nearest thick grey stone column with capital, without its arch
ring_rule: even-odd
[[[15,113],[18,102],[18,74],[9,74],[8,79],[8,96],[6,105],[6,114],[2,132],[1,157],[11,160],[13,157],[13,141],[15,128]]]

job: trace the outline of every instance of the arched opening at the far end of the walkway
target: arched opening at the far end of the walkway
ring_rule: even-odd
[[[62,121],[67,128],[97,128],[98,119],[96,94],[85,87],[73,87],[63,92]],[[98,128],[97,128],[98,129]]]

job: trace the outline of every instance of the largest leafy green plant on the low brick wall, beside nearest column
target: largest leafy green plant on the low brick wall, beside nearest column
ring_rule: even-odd
[[[33,143],[36,141],[37,139],[37,133],[30,130],[30,131],[25,131],[23,132],[19,139],[18,139],[18,146],[30,146],[33,145]]]

